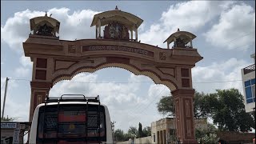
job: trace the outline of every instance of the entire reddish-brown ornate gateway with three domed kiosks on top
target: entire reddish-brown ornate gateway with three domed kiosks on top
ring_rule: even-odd
[[[55,23],[49,26],[42,23],[47,24],[47,21]],[[30,22],[33,22],[30,23],[31,30],[38,30],[38,26],[50,29],[50,33],[30,34],[23,42],[25,56],[33,62],[30,121],[35,107],[43,102],[55,83],[70,80],[82,72],[93,73],[107,67],[118,67],[136,75],[146,75],[156,84],[169,87],[175,102],[177,137],[183,143],[197,143],[191,69],[202,57],[192,46],[194,34],[178,30],[166,39],[167,49],[141,43],[138,42],[138,26],[142,19],[118,9],[94,16],[91,26],[96,26],[95,39],[60,40],[55,34],[59,22],[47,14],[32,18]],[[103,37],[102,25],[106,25]],[[172,49],[169,47],[171,42],[174,42]]]

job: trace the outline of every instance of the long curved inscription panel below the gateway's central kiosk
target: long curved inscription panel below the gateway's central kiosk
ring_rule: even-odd
[[[149,50],[138,49],[134,47],[128,46],[106,46],[106,45],[99,45],[99,46],[82,46],[82,52],[84,51],[101,51],[101,50],[108,50],[108,51],[124,51],[130,52],[134,54],[142,54],[149,57],[154,57],[154,52]]]

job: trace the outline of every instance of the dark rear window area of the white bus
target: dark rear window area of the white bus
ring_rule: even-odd
[[[105,116],[104,106],[98,105],[88,105],[88,111],[85,104],[42,106],[38,116],[37,142],[106,141]]]

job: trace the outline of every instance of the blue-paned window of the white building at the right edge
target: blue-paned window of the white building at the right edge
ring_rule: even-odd
[[[246,103],[255,102],[255,78],[245,82]]]

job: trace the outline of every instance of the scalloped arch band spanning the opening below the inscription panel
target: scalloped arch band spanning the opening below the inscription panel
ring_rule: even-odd
[[[91,55],[93,56],[93,55]],[[105,54],[97,54],[95,58],[86,59],[88,62],[79,61],[70,63],[70,66],[59,66],[57,60],[55,69],[58,69],[52,74],[52,83],[55,84],[62,80],[70,80],[74,75],[82,72],[94,73],[96,70],[101,70],[107,67],[118,67],[130,71],[135,75],[145,75],[151,78],[156,84],[166,85],[170,90],[176,90],[177,80],[174,78],[174,68],[154,66],[145,58],[131,58],[129,55],[116,54],[108,56]],[[56,65],[57,63],[57,65]],[[59,65],[58,65],[59,64]]]

